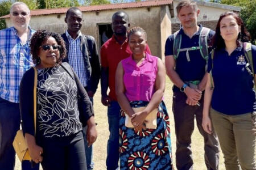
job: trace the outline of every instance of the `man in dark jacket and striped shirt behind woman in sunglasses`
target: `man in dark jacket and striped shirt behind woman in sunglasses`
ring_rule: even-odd
[[[100,61],[94,37],[84,35],[80,31],[83,22],[82,12],[79,8],[68,9],[65,17],[68,30],[61,35],[67,48],[67,57],[64,61],[73,67],[93,103],[93,95],[100,80]],[[94,166],[93,148],[86,142],[86,127],[83,131],[87,169],[90,170]]]

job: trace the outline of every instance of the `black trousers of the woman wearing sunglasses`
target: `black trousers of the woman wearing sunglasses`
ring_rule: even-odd
[[[44,170],[87,169],[82,131],[68,137],[44,138],[40,146],[43,147]]]

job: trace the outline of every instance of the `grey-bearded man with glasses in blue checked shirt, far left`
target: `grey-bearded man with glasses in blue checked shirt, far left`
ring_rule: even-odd
[[[14,27],[0,31],[0,169],[14,169],[13,140],[20,127],[19,83],[23,74],[34,64],[30,56],[29,40],[35,32],[28,24],[30,10],[23,2],[10,8]],[[23,169],[31,169],[29,162]],[[38,169],[37,165],[36,168]]]

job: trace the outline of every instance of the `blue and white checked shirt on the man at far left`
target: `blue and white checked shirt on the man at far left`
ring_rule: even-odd
[[[25,44],[14,27],[0,31],[0,97],[13,103],[19,103],[19,83],[23,74],[34,66],[29,40],[35,31],[28,28],[30,36]]]

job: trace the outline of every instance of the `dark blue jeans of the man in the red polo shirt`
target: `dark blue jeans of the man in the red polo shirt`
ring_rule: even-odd
[[[117,101],[112,101],[108,107],[108,122],[110,132],[106,159],[106,166],[108,170],[118,169],[120,109],[121,108]]]

